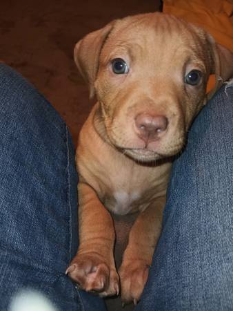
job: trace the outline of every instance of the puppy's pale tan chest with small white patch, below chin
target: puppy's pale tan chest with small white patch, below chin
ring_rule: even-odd
[[[138,164],[110,168],[101,173],[99,198],[111,213],[117,215],[143,211],[165,194],[167,167],[141,167]]]

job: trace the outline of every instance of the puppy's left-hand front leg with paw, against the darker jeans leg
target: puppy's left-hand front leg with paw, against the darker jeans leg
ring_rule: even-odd
[[[96,192],[79,183],[79,250],[66,271],[83,290],[100,296],[119,294],[113,249],[114,225]]]

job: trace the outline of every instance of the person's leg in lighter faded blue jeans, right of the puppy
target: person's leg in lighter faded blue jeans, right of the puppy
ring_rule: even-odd
[[[163,232],[136,311],[233,308],[233,86],[205,106],[175,161]]]

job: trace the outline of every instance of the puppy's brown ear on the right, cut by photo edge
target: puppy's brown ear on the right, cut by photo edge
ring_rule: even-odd
[[[221,44],[216,44],[211,35],[208,35],[208,41],[212,58],[210,74],[215,75],[215,86],[207,93],[207,100],[210,100],[223,82],[233,77],[233,53]]]

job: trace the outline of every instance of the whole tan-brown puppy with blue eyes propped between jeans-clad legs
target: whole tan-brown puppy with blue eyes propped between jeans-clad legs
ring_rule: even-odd
[[[122,300],[136,303],[161,232],[171,157],[207,100],[209,75],[216,91],[233,57],[201,28],[156,12],[90,33],[74,58],[98,102],[79,137],[80,245],[67,273],[101,296],[121,284]],[[135,211],[118,274],[111,214]]]

